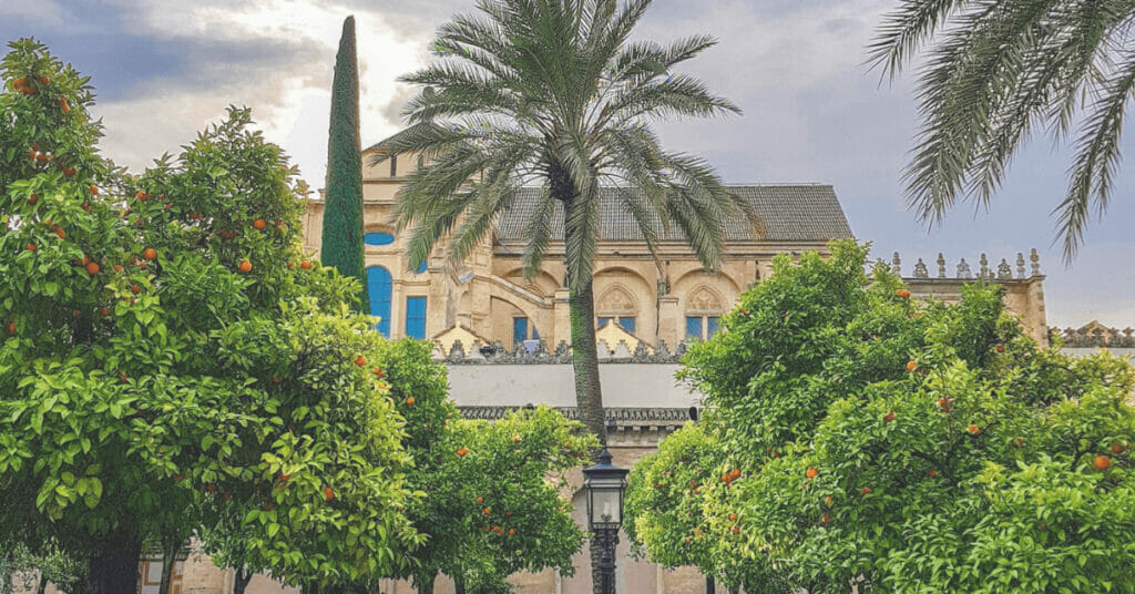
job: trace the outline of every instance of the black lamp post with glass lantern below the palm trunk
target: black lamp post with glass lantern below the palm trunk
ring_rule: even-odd
[[[623,524],[623,492],[630,470],[611,463],[611,452],[599,452],[599,463],[583,469],[587,525],[599,545],[599,592],[615,594],[615,545]]]

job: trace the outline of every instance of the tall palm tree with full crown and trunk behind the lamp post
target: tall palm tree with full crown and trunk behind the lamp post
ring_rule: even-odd
[[[592,266],[599,190],[620,186],[647,245],[675,224],[703,265],[722,260],[723,220],[737,202],[703,159],[666,152],[648,120],[740,110],[697,78],[673,73],[716,41],[629,41],[650,0],[480,0],[437,33],[430,66],[402,77],[423,91],[411,126],[388,141],[424,165],[398,194],[398,228],[420,265],[448,239],[459,262],[493,229],[523,185],[543,189],[527,221],[523,267],[533,276],[563,217],[575,396],[581,420],[604,437],[595,345]],[[633,186],[633,189],[628,187]]]

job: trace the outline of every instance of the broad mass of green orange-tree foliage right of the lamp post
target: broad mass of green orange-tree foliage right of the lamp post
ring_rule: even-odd
[[[707,418],[628,495],[649,557],[753,592],[1135,592],[1129,365],[1039,348],[997,287],[913,301],[865,258],[779,258],[691,349]]]

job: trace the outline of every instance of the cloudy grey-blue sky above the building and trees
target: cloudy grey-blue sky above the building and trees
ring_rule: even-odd
[[[866,45],[896,0],[655,0],[637,36],[709,33],[718,45],[687,62],[743,110],[661,122],[672,150],[706,157],[731,184],[831,184],[860,241],[903,271],[933,273],[942,252],[977,269],[1037,249],[1051,326],[1135,326],[1133,169],[1117,176],[1105,217],[1093,219],[1070,266],[1054,245],[1052,209],[1067,187],[1067,143],[1031,139],[989,208],[956,207],[927,228],[907,210],[902,171],[918,119],[914,76],[881,82]],[[92,77],[104,154],[134,170],[176,153],[229,104],[251,107],[268,140],[322,187],[331,72],[343,19],[359,35],[363,144],[402,126],[414,92],[397,83],[429,60],[432,34],[473,0],[5,0],[0,39],[34,36]],[[2,51],[2,50],[0,50]],[[1133,154],[1133,141],[1123,142]]]

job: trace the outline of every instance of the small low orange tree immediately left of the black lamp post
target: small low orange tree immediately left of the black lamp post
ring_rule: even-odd
[[[415,580],[440,572],[472,594],[512,592],[506,578],[548,567],[571,575],[583,534],[571,517],[568,470],[597,445],[578,421],[547,407],[494,423],[451,421],[436,471],[423,485],[431,542]]]

